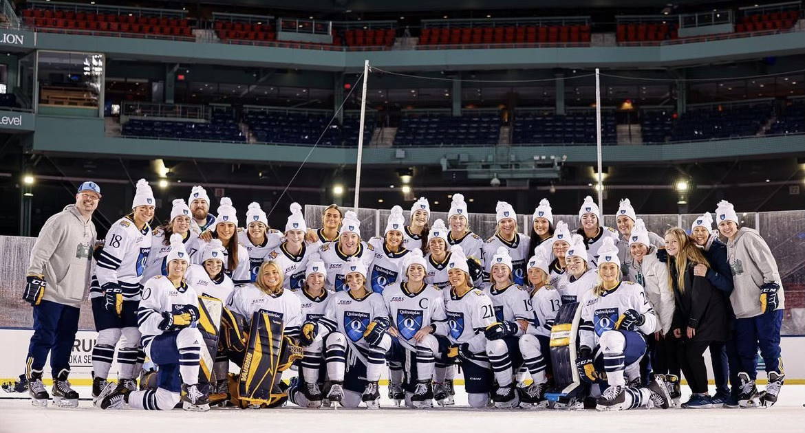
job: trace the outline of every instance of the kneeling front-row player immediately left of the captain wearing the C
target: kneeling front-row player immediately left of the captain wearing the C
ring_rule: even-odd
[[[332,295],[317,324],[304,324],[302,344],[326,348],[330,387],[324,390],[324,398],[328,402],[345,407],[364,402],[368,409],[378,409],[378,381],[391,348],[391,336],[386,333],[389,311],[383,296],[366,286],[366,266],[360,258],[349,258],[344,267],[347,290]]]

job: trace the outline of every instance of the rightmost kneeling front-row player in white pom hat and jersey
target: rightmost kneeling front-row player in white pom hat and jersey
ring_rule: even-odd
[[[670,402],[663,377],[639,387],[640,360],[646,353],[646,335],[654,332],[657,317],[643,288],[621,279],[621,262],[612,237],[599,249],[601,282],[580,300],[579,349],[576,368],[583,381],[593,383],[597,410],[627,410],[638,406],[667,409]],[[601,367],[606,372],[601,380]],[[627,383],[630,385],[627,386]],[[632,386],[631,384],[638,384]]]

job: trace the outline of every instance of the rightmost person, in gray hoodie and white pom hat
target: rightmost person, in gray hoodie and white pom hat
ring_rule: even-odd
[[[733,273],[733,294],[729,300],[736,316],[735,347],[741,362],[741,407],[771,406],[777,402],[785,374],[780,358],[780,328],[785,308],[777,262],[757,230],[738,228],[733,204],[721,200],[716,209],[718,229],[727,238],[727,255]],[[754,384],[757,353],[766,362],[769,383],[764,394]],[[758,398],[760,397],[760,398]]]

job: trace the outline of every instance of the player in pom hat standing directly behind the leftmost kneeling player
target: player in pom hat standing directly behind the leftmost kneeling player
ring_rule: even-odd
[[[171,221],[154,229],[151,236],[151,251],[148,252],[145,270],[142,271],[142,281],[148,281],[156,275],[167,275],[167,253],[171,250],[171,234],[179,233],[184,240],[184,249],[190,258],[196,256],[201,249],[199,233],[190,229],[190,208],[184,204],[184,199],[173,200],[171,208]]]

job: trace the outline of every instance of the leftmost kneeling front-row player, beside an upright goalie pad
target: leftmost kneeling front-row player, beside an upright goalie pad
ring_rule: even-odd
[[[167,277],[157,275],[146,282],[137,312],[143,347],[159,367],[158,388],[137,391],[122,381],[109,383],[97,398],[101,409],[122,409],[127,403],[133,409],[171,410],[181,401],[184,410],[209,410],[207,395],[198,386],[198,295],[184,281],[188,253],[178,233],[171,235],[167,269]]]

